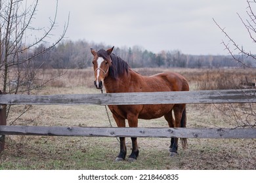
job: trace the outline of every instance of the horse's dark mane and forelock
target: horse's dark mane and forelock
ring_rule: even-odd
[[[99,57],[102,57],[105,60],[109,59],[106,50],[99,50],[97,54]],[[130,66],[126,61],[114,54],[110,55],[110,59],[112,60],[112,64],[110,64],[110,69],[108,71],[108,75],[110,77],[116,79],[125,73],[128,74]]]

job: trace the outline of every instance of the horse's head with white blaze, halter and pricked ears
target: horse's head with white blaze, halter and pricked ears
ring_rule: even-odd
[[[95,86],[97,89],[102,89],[104,78],[108,76],[108,71],[112,65],[110,54],[112,53],[114,46],[108,50],[99,50],[96,52],[91,48],[93,54],[93,69],[95,72]]]

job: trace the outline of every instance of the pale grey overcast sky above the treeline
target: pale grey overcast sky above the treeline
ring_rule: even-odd
[[[35,24],[53,17],[53,0],[39,1]],[[221,27],[249,48],[253,45],[237,12],[244,18],[245,0],[59,0],[58,27],[70,23],[66,38],[113,46],[135,45],[152,52],[180,50],[184,54],[227,54]],[[256,10],[256,8],[255,8]]]

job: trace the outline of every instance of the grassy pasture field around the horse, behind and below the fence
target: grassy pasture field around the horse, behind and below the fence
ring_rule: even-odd
[[[165,69],[136,69],[142,75]],[[173,69],[170,69],[173,70]],[[184,75],[190,90],[230,89],[245,76],[256,78],[255,70],[174,69]],[[54,70],[40,71],[41,77]],[[68,70],[50,82],[40,94],[99,93],[93,84],[93,69]],[[28,106],[12,106],[7,124],[11,124]],[[188,127],[235,127],[226,115],[228,105],[187,105]],[[255,105],[252,106],[254,111]],[[245,105],[236,105],[245,108]],[[230,112],[232,114],[232,112]],[[255,120],[255,119],[254,119]],[[116,126],[111,118],[112,125]],[[14,125],[74,125],[109,127],[102,106],[32,106]],[[163,118],[139,120],[139,127],[167,127]],[[115,162],[119,142],[105,137],[7,136],[1,153],[0,169],[256,169],[256,139],[188,139],[188,148],[179,148],[179,156],[169,157],[169,139],[139,138],[137,161]],[[127,148],[131,142],[127,139]]]

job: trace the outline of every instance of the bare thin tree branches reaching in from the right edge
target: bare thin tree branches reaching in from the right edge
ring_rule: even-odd
[[[244,25],[245,29],[247,30],[249,38],[256,43],[256,14],[253,12],[253,6],[256,5],[256,0],[247,0],[247,5],[247,19],[243,19],[242,16],[240,16],[240,14],[237,14],[240,20],[242,21],[242,24]],[[223,41],[222,44],[224,45],[224,48],[228,50],[230,56],[232,56],[232,58],[238,63],[240,63],[244,68],[256,68],[256,55],[252,54],[251,51],[244,49],[243,46],[240,46],[238,43],[236,43],[236,41],[234,41],[234,39],[230,37],[230,35],[228,35],[224,28],[222,28],[214,19],[213,21],[219,27],[219,29],[221,29],[221,31],[227,38],[227,41]],[[234,54],[234,52],[238,52],[240,56]],[[246,58],[253,60],[253,63],[247,62]],[[253,78],[253,80],[255,80],[255,78]],[[256,87],[255,82],[251,84],[254,88]],[[243,92],[242,88],[241,92]],[[251,93],[251,95],[254,95],[256,100],[256,92]],[[256,127],[255,111],[255,103],[245,103],[240,105],[228,103],[228,105],[223,106],[223,110],[221,110],[221,112],[228,116],[230,124],[234,125],[235,127]]]

